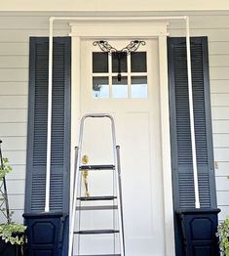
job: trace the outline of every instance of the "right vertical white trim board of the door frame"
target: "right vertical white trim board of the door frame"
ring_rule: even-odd
[[[166,255],[175,255],[174,223],[172,205],[172,160],[171,160],[171,130],[168,90],[168,58],[167,37],[159,37],[159,73],[160,73],[160,109],[161,109],[161,142],[162,168],[165,208]]]

